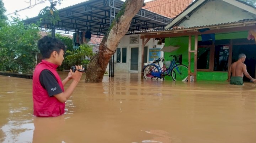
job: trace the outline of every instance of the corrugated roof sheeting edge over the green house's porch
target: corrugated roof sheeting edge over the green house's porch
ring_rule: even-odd
[[[201,25],[201,26],[194,26],[194,27],[174,27],[171,29],[155,29],[155,30],[146,30],[146,31],[138,31],[133,32],[133,34],[140,34],[140,33],[150,33],[150,32],[168,32],[168,31],[175,31],[175,30],[186,30],[186,29],[202,29],[202,28],[208,28],[208,27],[215,27],[215,26],[225,26],[225,25],[236,25],[236,24],[243,24],[243,23],[250,23],[255,22],[256,19],[244,19],[236,22],[228,22],[228,23],[218,23],[218,24],[211,24],[211,25]]]

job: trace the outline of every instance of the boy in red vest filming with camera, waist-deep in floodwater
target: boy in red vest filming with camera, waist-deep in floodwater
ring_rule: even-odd
[[[76,66],[73,73],[61,81],[56,69],[64,59],[65,45],[62,41],[44,36],[38,41],[38,48],[43,56],[33,73],[34,115],[39,117],[59,116],[65,112],[65,102],[75,90],[82,76],[82,66]],[[64,91],[64,85],[73,79]]]

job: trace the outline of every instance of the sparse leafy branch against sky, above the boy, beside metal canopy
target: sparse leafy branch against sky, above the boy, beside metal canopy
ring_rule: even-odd
[[[49,20],[53,25],[60,21],[59,11],[56,9],[57,4],[61,4],[62,0],[49,0],[50,6],[44,7],[38,14],[44,20]]]

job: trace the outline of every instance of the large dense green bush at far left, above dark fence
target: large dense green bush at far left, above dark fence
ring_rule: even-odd
[[[0,30],[0,70],[30,73],[36,65],[38,25],[13,18]]]

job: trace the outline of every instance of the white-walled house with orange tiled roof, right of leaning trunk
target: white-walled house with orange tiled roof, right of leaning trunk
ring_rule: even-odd
[[[159,15],[174,18],[182,12],[193,0],[152,0],[142,7],[144,10],[158,13]],[[143,23],[141,23],[143,24]],[[140,25],[138,25],[140,26]],[[143,25],[142,25],[143,26]],[[155,29],[163,29],[155,27]],[[149,29],[150,30],[150,29]],[[145,63],[154,58],[162,57],[164,52],[160,49],[164,46],[161,40],[150,39],[143,48],[140,34],[127,34],[121,39],[115,53],[115,70],[121,72],[141,72]],[[159,51],[156,52],[154,51]],[[142,60],[143,53],[143,60]]]

